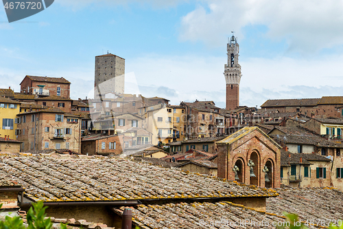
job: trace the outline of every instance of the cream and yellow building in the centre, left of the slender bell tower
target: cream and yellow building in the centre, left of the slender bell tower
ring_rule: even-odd
[[[184,116],[183,107],[165,104],[147,107],[144,129],[152,133],[152,144],[167,144],[183,140]]]

